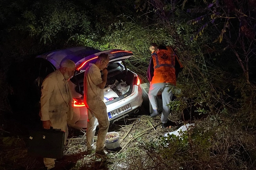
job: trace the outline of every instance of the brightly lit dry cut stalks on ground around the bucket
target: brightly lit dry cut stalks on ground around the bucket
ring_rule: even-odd
[[[86,155],[85,133],[80,132],[80,137],[68,140],[65,155],[71,157],[81,153],[74,169],[134,169],[134,165],[137,166],[134,163],[136,158],[146,156],[143,151],[144,143],[156,141],[158,137],[174,129],[161,129],[159,117],[154,119],[147,115],[133,117],[130,116],[110,125],[109,132],[119,133],[120,148],[116,152],[111,152],[106,160],[97,159],[93,154]]]

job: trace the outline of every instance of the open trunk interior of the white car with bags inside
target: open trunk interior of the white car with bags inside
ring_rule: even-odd
[[[104,102],[112,104],[131,94],[135,81],[134,74],[124,69],[120,63],[113,63],[108,66],[107,82],[104,89]],[[84,71],[74,76],[71,81],[76,84],[76,92],[84,96]]]

